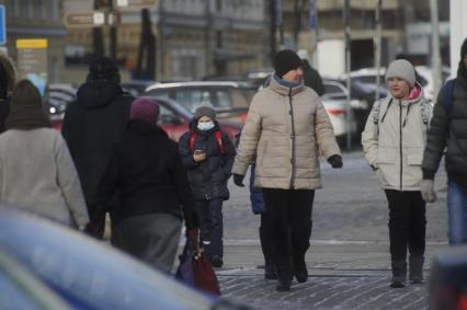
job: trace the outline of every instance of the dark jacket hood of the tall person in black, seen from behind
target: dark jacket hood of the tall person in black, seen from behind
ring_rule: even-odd
[[[87,82],[78,90],[78,104],[84,108],[99,108],[109,105],[123,90],[115,83],[106,81]]]

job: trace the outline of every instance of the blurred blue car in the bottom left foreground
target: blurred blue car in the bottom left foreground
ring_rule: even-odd
[[[4,206],[0,249],[73,309],[247,309],[185,286],[83,233]],[[8,309],[31,309],[20,307],[22,300],[12,302]]]

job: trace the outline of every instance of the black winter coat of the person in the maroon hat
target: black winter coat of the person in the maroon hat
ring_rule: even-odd
[[[184,217],[187,228],[197,227],[178,145],[156,125],[129,122],[127,135],[113,149],[96,202],[105,206],[114,193],[118,193],[117,208],[113,210],[116,221],[163,213]]]

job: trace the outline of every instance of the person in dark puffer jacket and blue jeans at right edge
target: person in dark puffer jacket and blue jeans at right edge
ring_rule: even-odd
[[[467,39],[457,77],[440,91],[423,156],[422,196],[436,200],[434,175],[446,149],[449,244],[467,243]]]

